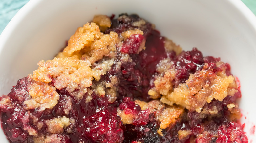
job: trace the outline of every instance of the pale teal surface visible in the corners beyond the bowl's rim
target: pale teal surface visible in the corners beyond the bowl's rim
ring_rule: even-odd
[[[0,34],[10,22],[12,17],[29,0],[0,0]],[[256,15],[256,0],[242,0],[245,5]]]

